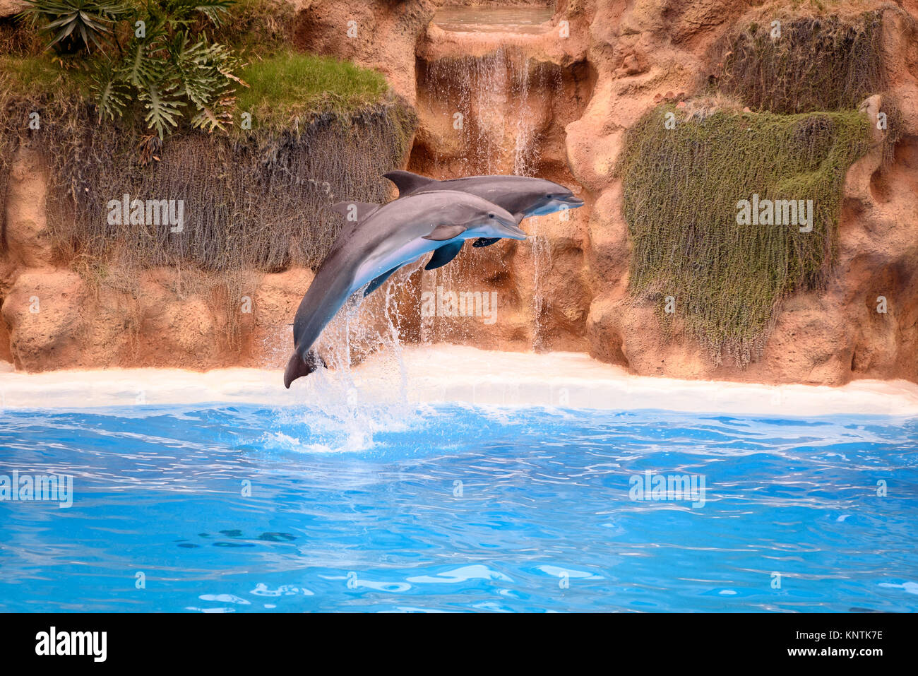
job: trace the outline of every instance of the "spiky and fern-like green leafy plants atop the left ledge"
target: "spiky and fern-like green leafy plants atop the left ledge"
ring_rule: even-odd
[[[220,26],[231,0],[28,2],[25,14],[50,35],[49,48],[83,55],[76,67],[90,75],[100,120],[138,107],[159,141],[185,111],[196,129],[226,129],[236,86],[245,84],[235,74],[241,63],[205,28]]]

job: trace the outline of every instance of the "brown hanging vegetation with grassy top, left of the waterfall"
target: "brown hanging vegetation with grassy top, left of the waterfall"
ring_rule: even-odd
[[[55,2],[83,6],[95,0]],[[50,170],[49,227],[62,260],[89,255],[108,267],[203,270],[318,265],[340,220],[325,207],[341,199],[388,197],[380,175],[409,151],[413,112],[391,95],[380,73],[289,51],[284,30],[270,18],[283,15],[263,6],[272,2],[249,0],[241,6],[243,17],[227,14],[232,8],[222,0],[143,4],[153,19],[138,45],[185,45],[185,56],[162,52],[165,70],[144,65],[152,52],[130,52],[130,40],[118,48],[118,21],[125,15],[104,4],[91,4],[95,14],[83,23],[57,19],[47,25],[58,29],[52,44],[61,55],[0,57],[0,189],[18,147],[28,143],[42,153]],[[189,18],[189,7],[199,19]],[[201,21],[219,23],[227,40],[221,53],[234,53],[232,27],[263,31],[262,51],[256,56],[248,42],[242,44],[237,51],[249,63],[234,62],[232,73],[220,73],[222,65],[210,58],[217,43],[190,37]],[[65,29],[70,32],[61,36]],[[192,42],[200,46],[189,51]],[[114,56],[122,52],[134,56]],[[92,65],[73,65],[78,54],[89,54]],[[204,80],[185,77],[189,63],[199,72],[195,78]],[[130,70],[135,65],[137,72]],[[114,79],[100,80],[103,71]],[[226,82],[208,89],[205,81],[214,73],[225,74]],[[149,79],[136,84],[135,75]],[[167,75],[171,84],[162,84]],[[243,80],[251,86],[241,86]],[[239,85],[241,96],[227,98],[229,85]],[[165,107],[151,107],[155,92],[169,92],[159,99]],[[173,103],[164,104],[167,99]],[[192,117],[169,112],[189,108]],[[29,124],[33,115],[39,129]],[[135,213],[135,200],[144,208],[148,200],[181,203],[181,227]],[[118,213],[115,202],[123,205]],[[150,215],[157,216],[156,208]]]

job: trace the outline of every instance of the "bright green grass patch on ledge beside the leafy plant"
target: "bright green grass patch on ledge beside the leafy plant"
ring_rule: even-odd
[[[380,103],[388,92],[382,73],[295,51],[253,59],[240,74],[249,86],[238,90],[238,107],[261,128],[286,127],[314,113],[350,114]]]

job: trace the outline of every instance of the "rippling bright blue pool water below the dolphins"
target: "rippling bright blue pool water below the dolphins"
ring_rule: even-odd
[[[918,608],[913,420],[147,406],[0,412],[0,448],[73,477],[0,501],[2,611]]]

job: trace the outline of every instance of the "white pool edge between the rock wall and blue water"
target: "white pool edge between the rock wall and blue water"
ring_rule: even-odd
[[[393,366],[395,364],[395,366]],[[317,377],[318,376],[318,377]],[[309,378],[313,382],[307,383]],[[375,397],[497,406],[559,406],[630,411],[664,409],[816,416],[918,416],[918,385],[856,380],[838,388],[761,385],[633,376],[579,353],[492,352],[456,345],[407,346],[402,358],[374,357],[351,373],[301,378],[285,389],[280,369],[172,368],[0,373],[0,409],[80,409],[196,402],[308,405],[329,389],[372,390]],[[325,390],[317,391],[317,382]],[[404,390],[400,390],[404,383]],[[323,394],[324,392],[324,394]]]

